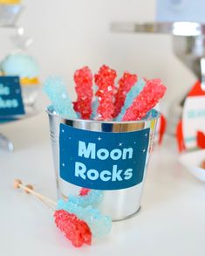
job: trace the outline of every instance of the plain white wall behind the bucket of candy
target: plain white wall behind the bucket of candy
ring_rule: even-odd
[[[72,74],[84,65],[160,77],[168,88],[167,103],[195,81],[174,57],[170,36],[109,31],[111,21],[154,21],[154,0],[24,0],[24,5],[18,24],[34,38],[28,52],[38,59],[42,80],[49,74],[65,77],[72,98]],[[6,33],[11,31],[0,35],[1,57],[10,49]]]

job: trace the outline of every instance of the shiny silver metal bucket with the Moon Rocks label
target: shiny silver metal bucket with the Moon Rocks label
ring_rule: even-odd
[[[47,108],[58,198],[103,190],[99,206],[114,220],[140,210],[159,112],[142,121],[69,120]]]

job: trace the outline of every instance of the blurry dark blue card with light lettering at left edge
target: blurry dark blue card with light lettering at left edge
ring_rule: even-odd
[[[19,78],[0,76],[0,119],[25,114]]]

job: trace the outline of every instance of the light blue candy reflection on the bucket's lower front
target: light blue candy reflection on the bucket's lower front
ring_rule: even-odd
[[[92,205],[97,208],[103,198],[103,191],[101,190],[90,190],[86,196],[68,196],[68,201],[72,204],[78,204],[79,206],[86,207]]]

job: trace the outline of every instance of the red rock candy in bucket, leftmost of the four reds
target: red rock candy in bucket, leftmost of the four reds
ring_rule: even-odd
[[[78,99],[74,103],[75,111],[81,114],[81,118],[89,119],[92,114],[92,73],[84,66],[74,73],[76,92]]]

